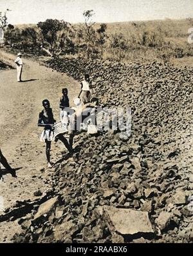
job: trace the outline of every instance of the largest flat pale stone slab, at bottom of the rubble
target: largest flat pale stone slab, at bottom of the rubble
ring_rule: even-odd
[[[114,208],[111,206],[104,206],[103,210],[109,230],[112,232],[116,231],[122,235],[154,232],[147,212]]]

